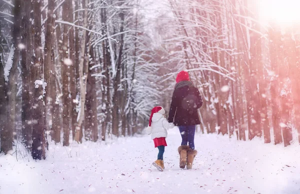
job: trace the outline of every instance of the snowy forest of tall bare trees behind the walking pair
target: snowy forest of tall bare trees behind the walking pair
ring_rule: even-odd
[[[22,143],[41,159],[50,141],[141,133],[180,70],[204,101],[199,133],[300,141],[300,23],[263,17],[267,6],[0,0],[0,151]]]

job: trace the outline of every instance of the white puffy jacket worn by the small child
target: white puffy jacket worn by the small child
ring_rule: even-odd
[[[151,126],[148,126],[146,128],[146,133],[151,134],[152,139],[158,137],[166,137],[166,129],[174,127],[174,124],[169,123],[163,116],[163,114],[161,114],[160,112],[154,113],[151,120]]]

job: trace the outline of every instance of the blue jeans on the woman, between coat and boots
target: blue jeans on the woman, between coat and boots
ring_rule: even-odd
[[[180,134],[181,134],[181,145],[187,145],[191,149],[195,148],[194,145],[194,137],[195,137],[195,131],[196,131],[196,125],[190,125],[190,126],[178,126]]]

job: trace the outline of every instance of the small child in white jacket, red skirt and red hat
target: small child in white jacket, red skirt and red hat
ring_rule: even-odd
[[[164,169],[163,165],[163,152],[164,146],[166,146],[165,138],[167,136],[166,129],[173,128],[174,124],[169,123],[164,116],[164,109],[161,106],[155,106],[151,110],[149,118],[149,126],[146,128],[146,133],[151,134],[151,138],[154,141],[154,147],[158,148],[157,160],[153,162],[153,165],[159,170]]]

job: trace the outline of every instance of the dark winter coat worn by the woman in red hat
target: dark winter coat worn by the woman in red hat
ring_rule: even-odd
[[[173,92],[168,121],[176,126],[200,124],[197,109],[202,106],[202,98],[198,89],[190,82],[177,83]]]

